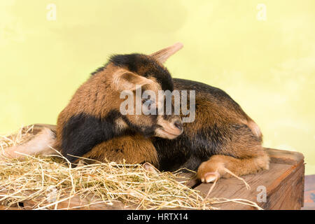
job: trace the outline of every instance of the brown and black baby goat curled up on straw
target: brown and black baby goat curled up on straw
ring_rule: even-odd
[[[70,162],[78,157],[128,163],[150,162],[164,171],[186,167],[197,170],[202,182],[268,169],[258,125],[228,94],[192,80],[172,78],[162,64],[182,48],[176,43],[151,55],[116,55],[81,85],[57,119],[57,132],[44,129],[22,146],[8,148],[7,156],[20,153],[48,155],[57,149]],[[164,99],[144,97],[157,113],[120,112],[123,91],[195,91],[195,120],[182,123],[183,114],[168,115]],[[188,99],[188,103],[190,99]],[[174,103],[174,101],[173,101]],[[174,105],[173,105],[174,106]],[[134,104],[134,111],[137,104]],[[173,111],[174,112],[174,111]]]

